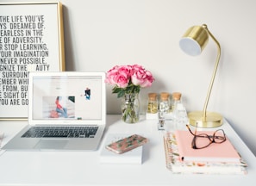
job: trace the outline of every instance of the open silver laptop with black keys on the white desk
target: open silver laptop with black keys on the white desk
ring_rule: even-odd
[[[28,126],[5,150],[95,151],[106,124],[104,72],[29,72]]]

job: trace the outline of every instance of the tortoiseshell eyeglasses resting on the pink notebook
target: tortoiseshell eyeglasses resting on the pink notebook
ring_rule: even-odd
[[[195,130],[195,133],[192,133],[189,125],[186,125],[186,127],[189,129],[190,133],[194,136],[191,143],[191,147],[193,149],[203,149],[211,145],[212,143],[221,144],[226,140],[226,134],[222,129],[218,129],[212,135],[209,135],[206,133],[197,134],[197,127]]]

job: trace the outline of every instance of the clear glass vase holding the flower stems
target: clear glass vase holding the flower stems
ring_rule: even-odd
[[[136,123],[140,119],[140,100],[138,93],[125,94],[122,97],[122,121]]]

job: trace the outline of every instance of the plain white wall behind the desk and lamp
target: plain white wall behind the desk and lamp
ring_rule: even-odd
[[[180,50],[178,40],[190,26],[206,23],[222,46],[208,109],[222,113],[256,154],[256,1],[61,2],[67,71],[108,71],[114,65],[144,65],[156,81],[151,88],[141,90],[141,100],[145,103],[150,91],[181,91],[189,111],[203,109],[216,47],[209,40],[202,55],[190,57]],[[111,94],[111,88],[108,86],[108,113],[119,113],[120,102]]]

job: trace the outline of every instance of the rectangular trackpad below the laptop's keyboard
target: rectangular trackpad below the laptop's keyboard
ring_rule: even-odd
[[[63,149],[69,140],[47,140],[41,139],[36,146],[35,149]]]

